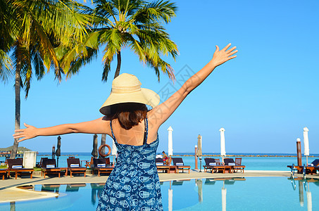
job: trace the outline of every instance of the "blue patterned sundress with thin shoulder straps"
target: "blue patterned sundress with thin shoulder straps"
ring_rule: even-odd
[[[145,119],[145,140],[148,122]],[[161,187],[155,165],[156,141],[142,146],[121,144],[116,141],[118,160],[99,198],[96,210],[163,210]]]

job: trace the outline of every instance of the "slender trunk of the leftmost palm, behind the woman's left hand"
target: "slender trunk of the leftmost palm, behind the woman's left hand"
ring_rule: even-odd
[[[20,48],[20,45],[18,44],[17,46]],[[17,55],[17,65],[15,69],[15,129],[20,129],[20,86],[21,86],[21,55],[18,50],[18,55]],[[10,158],[14,159],[15,155],[17,154],[18,151],[18,140],[19,139],[14,139],[13,142],[13,148],[11,151]]]

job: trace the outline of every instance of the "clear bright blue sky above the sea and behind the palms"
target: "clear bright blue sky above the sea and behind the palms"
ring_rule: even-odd
[[[308,127],[310,152],[319,153],[319,2],[183,0],[177,6],[177,17],[166,27],[180,51],[176,62],[167,58],[178,80],[172,84],[161,75],[158,83],[154,70],[128,49],[122,53],[121,73],[136,75],[142,87],[173,91],[181,87],[182,75],[208,63],[215,44],[231,42],[239,53],[215,69],[161,126],[158,151],[167,151],[172,126],[175,153],[193,152],[199,134],[203,151],[218,153],[220,127],[225,128],[226,153],[294,153],[296,138],[302,141]],[[52,73],[33,79],[29,97],[22,97],[21,124],[49,127],[101,117],[116,67],[113,63],[108,82],[101,82],[101,56],[61,84]],[[0,87],[0,147],[7,147],[13,143],[13,79]],[[56,137],[37,137],[20,146],[48,152]],[[63,135],[61,150],[91,152],[92,137]],[[110,137],[106,143],[111,144]]]

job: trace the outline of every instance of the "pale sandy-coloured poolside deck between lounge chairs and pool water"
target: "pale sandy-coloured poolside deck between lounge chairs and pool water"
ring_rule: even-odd
[[[289,171],[249,171],[244,173],[232,173],[232,174],[211,174],[208,172],[198,172],[191,170],[188,173],[180,174],[165,174],[159,173],[160,181],[169,180],[183,180],[183,179],[199,179],[199,178],[224,178],[224,177],[290,177]],[[295,177],[303,177],[302,174],[295,174]],[[319,174],[306,175],[307,178],[319,179]],[[83,184],[83,183],[105,183],[108,176],[97,177],[96,175],[87,174],[87,177],[49,177],[44,179],[43,177],[34,176],[30,178],[18,178],[18,179],[6,179],[0,181],[0,203],[8,203],[11,201],[22,200],[34,200],[39,198],[51,198],[56,197],[56,193],[39,192],[39,191],[27,191],[21,188],[15,188],[16,186],[26,186],[35,184]]]

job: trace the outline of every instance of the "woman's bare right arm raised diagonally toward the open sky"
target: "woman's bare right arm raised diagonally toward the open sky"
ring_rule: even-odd
[[[186,98],[186,96],[193,91],[201,82],[213,72],[213,70],[225,63],[227,60],[235,58],[234,53],[237,53],[236,47],[230,48],[231,44],[227,44],[224,49],[219,50],[216,46],[215,53],[213,54],[212,60],[207,63],[204,68],[196,72],[195,75],[187,79],[182,87],[175,92],[168,100],[156,106],[154,109],[149,111],[149,119],[152,121],[154,126],[159,127],[165,122],[170,115],[174,113],[176,108],[180,106],[180,103]]]

